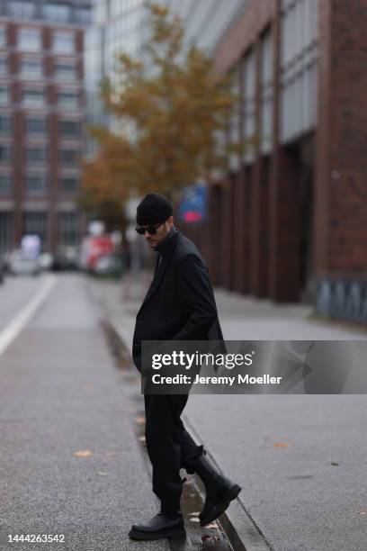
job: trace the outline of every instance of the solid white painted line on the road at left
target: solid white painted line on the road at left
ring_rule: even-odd
[[[31,317],[40,308],[41,303],[46,300],[49,292],[55,286],[56,281],[57,278],[55,276],[49,276],[45,283],[40,287],[38,293],[36,293],[31,301],[24,306],[21,312],[19,312],[13,320],[9,322],[7,327],[0,332],[0,356],[4,354],[4,351],[9,345],[12,344],[13,340],[18,337],[19,333],[31,320]]]

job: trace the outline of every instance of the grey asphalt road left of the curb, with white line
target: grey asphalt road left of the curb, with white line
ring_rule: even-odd
[[[130,525],[157,505],[131,423],[131,389],[83,278],[8,279],[0,345],[0,550],[136,549]],[[9,541],[43,534],[64,541]]]

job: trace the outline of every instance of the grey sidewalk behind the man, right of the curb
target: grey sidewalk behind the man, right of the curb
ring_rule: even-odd
[[[130,350],[148,275],[91,282]],[[365,339],[273,305],[217,290],[225,339]],[[247,551],[359,551],[367,541],[363,395],[192,395],[185,421],[221,470],[240,483],[228,519]],[[230,450],[230,451],[229,451]],[[260,539],[254,540],[253,519]],[[255,538],[256,539],[256,538]]]

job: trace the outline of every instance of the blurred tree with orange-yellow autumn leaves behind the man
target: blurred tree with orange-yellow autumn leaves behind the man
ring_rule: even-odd
[[[210,181],[226,169],[228,149],[239,147],[219,139],[237,102],[230,78],[187,47],[180,18],[160,5],[148,9],[151,36],[140,59],[122,52],[101,86],[114,130],[91,129],[98,153],[85,164],[86,205]]]

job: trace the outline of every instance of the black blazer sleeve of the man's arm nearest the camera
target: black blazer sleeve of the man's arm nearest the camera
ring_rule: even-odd
[[[209,273],[200,257],[187,255],[176,266],[176,291],[187,321],[173,340],[205,339],[218,312]]]

